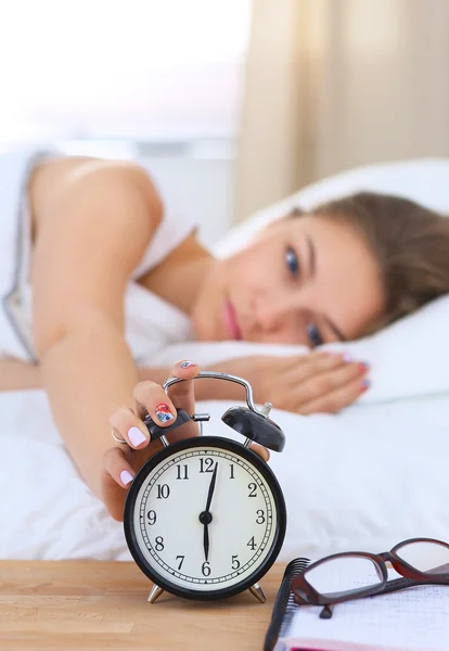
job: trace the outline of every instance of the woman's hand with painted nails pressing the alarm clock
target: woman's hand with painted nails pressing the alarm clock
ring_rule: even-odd
[[[115,520],[123,520],[127,489],[137,471],[157,450],[162,449],[159,441],[150,443],[150,433],[143,420],[149,413],[155,423],[168,427],[176,420],[176,410],[184,409],[189,416],[195,412],[194,382],[200,367],[194,362],[181,361],[170,371],[170,376],[191,380],[178,382],[168,390],[168,395],[155,382],[139,382],[133,391],[136,409],[124,408],[115,411],[110,418],[110,425],[117,438],[126,444],[117,443],[111,447],[103,458],[102,497]],[[189,421],[167,435],[170,443],[189,438],[198,434],[198,425]],[[111,437],[111,445],[114,439]],[[265,460],[269,454],[260,445],[252,444],[252,449]]]

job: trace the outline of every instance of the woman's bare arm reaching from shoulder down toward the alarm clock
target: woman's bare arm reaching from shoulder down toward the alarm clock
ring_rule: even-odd
[[[134,408],[138,379],[124,337],[124,293],[162,215],[139,167],[66,162],[36,180],[41,224],[33,263],[34,343],[55,424],[100,496],[108,417]],[[64,168],[65,165],[65,168]],[[49,469],[51,478],[51,469]]]

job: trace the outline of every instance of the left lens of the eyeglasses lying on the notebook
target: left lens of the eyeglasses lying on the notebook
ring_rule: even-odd
[[[306,570],[304,576],[317,592],[330,598],[339,592],[356,595],[383,583],[381,569],[375,561],[349,554],[329,559]]]

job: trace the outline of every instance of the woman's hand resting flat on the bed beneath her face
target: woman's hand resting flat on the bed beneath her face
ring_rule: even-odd
[[[256,403],[302,414],[336,413],[369,387],[367,363],[323,350],[295,357],[241,357],[219,362],[214,370],[247,380]]]

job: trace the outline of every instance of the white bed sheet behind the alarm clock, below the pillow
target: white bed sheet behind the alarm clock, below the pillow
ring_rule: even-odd
[[[210,433],[233,436],[220,420],[227,406],[198,403]],[[287,437],[270,460],[288,512],[280,560],[447,537],[449,396],[272,416]],[[123,525],[78,475],[43,392],[0,394],[0,558],[130,559]]]

